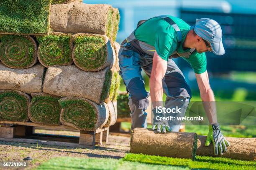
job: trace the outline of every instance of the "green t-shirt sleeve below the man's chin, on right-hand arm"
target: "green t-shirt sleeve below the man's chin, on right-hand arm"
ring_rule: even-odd
[[[206,71],[207,61],[205,52],[199,54],[198,52],[193,52],[189,58],[182,57],[184,60],[189,62],[191,67],[194,69],[194,72],[197,74],[201,74]]]

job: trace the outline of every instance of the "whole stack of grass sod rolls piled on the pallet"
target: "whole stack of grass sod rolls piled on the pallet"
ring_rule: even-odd
[[[96,130],[115,124],[117,8],[0,2],[0,120]]]

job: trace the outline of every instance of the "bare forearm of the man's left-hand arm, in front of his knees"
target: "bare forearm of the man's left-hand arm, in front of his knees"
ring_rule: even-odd
[[[149,84],[150,84],[150,96],[151,96],[151,101],[153,103],[153,108],[156,108],[156,106],[162,105],[162,102],[161,102],[163,100],[162,81],[151,77]]]

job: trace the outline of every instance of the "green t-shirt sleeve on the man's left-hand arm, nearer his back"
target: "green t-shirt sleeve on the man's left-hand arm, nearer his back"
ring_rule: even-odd
[[[169,56],[175,51],[176,47],[177,42],[170,34],[159,32],[156,35],[155,48],[162,59],[168,61]]]

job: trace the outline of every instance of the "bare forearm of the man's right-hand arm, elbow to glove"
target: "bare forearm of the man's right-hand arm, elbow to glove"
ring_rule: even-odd
[[[217,123],[216,104],[212,89],[201,93],[201,99],[205,108],[209,123]]]

